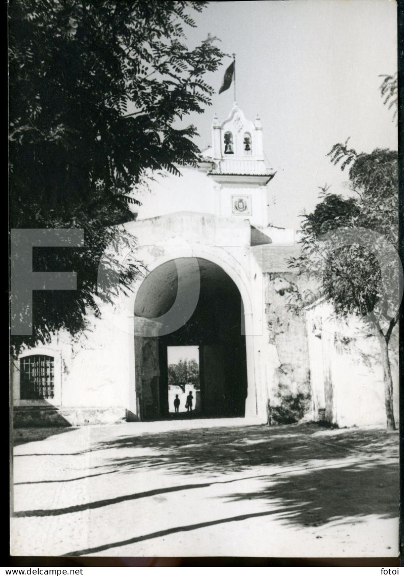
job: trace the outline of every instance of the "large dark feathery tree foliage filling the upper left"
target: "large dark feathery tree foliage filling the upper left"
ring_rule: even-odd
[[[205,75],[222,52],[208,37],[186,45],[206,2],[13,0],[9,6],[11,228],[82,228],[84,248],[36,251],[38,270],[74,270],[78,290],[35,294],[32,337],[80,332],[99,313],[97,268],[111,226],[133,219],[131,192],[148,170],[195,165]],[[111,262],[111,266],[118,263]],[[53,268],[52,268],[53,267]],[[134,267],[135,268],[135,267]],[[127,284],[136,270],[124,271]]]

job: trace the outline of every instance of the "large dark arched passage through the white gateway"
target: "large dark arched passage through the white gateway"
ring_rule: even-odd
[[[158,319],[172,306],[178,291],[178,270],[181,265],[183,286],[191,293],[199,286],[199,298],[190,317],[179,328],[159,334]],[[195,264],[196,263],[196,264]],[[199,276],[199,278],[198,278]],[[179,302],[181,311],[182,300]],[[183,306],[185,309],[186,306]],[[173,382],[169,375],[169,350],[198,349],[198,378],[194,383],[197,408],[195,416],[205,418],[244,416],[247,397],[246,338],[242,334],[243,302],[239,289],[217,264],[202,258],[170,260],[155,268],[139,287],[135,299],[135,324],[156,324],[150,331],[135,336],[135,386],[137,412],[141,419],[188,417],[189,412],[173,413],[169,402],[176,396],[170,386],[178,384],[183,393],[192,384],[186,380]],[[177,361],[186,360],[180,355]],[[195,364],[195,362],[194,362]],[[189,361],[188,361],[189,365]],[[183,366],[182,366],[183,368]],[[195,370],[190,371],[194,374]],[[187,377],[186,377],[187,379]]]

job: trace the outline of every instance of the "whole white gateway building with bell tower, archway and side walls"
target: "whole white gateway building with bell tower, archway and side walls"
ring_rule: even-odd
[[[124,225],[137,248],[117,256],[144,270],[133,289],[101,305],[80,338],[59,333],[12,361],[14,426],[168,418],[167,350],[177,346],[198,346],[203,417],[264,423],[270,401],[274,423],[386,422],[376,338],[358,338],[320,302],[289,309],[304,283],[288,267],[299,244],[269,225],[276,177],[258,116],[234,104],[215,117],[198,167],[180,170],[157,175]]]

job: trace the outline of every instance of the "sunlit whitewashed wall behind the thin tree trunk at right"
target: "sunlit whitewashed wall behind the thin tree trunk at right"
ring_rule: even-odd
[[[357,319],[337,321],[327,303],[307,312],[314,419],[319,408],[325,408],[326,418],[339,426],[386,423],[379,342],[364,330]],[[390,358],[398,421],[397,354],[395,336]]]

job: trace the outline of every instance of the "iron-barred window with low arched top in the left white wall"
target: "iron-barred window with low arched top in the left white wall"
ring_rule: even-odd
[[[32,355],[20,359],[21,400],[46,400],[54,397],[54,358]]]

